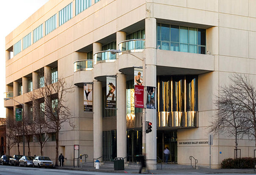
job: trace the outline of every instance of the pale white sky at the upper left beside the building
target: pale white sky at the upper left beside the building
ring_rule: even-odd
[[[0,117],[5,117],[5,37],[48,0],[7,0],[1,2],[0,10]]]

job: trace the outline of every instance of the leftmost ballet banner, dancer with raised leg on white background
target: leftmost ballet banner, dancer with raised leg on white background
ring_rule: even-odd
[[[92,84],[84,84],[84,111],[92,112]]]

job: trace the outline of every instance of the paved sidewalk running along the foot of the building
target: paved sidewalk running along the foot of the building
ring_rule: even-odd
[[[105,172],[105,173],[132,173],[137,174],[139,169],[129,169],[126,168],[122,171],[114,171],[114,168],[101,168],[96,170],[94,167],[82,167],[82,168],[74,168],[73,166],[64,166],[64,167],[56,167],[56,169],[63,169],[63,170],[77,170],[77,171],[93,171],[93,172]],[[195,174],[195,173],[202,173],[202,174],[211,174],[211,173],[240,173],[240,174],[255,174],[256,171],[254,169],[183,169],[183,168],[171,168],[171,169],[160,169],[160,170],[150,170],[150,174]]]

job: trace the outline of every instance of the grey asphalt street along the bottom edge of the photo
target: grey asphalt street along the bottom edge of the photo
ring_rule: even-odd
[[[120,171],[120,172],[99,172],[99,171],[77,171],[67,169],[45,169],[45,168],[31,168],[31,167],[14,167],[14,166],[0,166],[0,175],[134,175],[138,171]],[[255,173],[253,169],[245,170],[165,170],[165,171],[151,171],[149,174],[179,174],[179,175],[201,175],[201,174],[222,174],[222,175],[241,175],[244,173],[252,174]]]

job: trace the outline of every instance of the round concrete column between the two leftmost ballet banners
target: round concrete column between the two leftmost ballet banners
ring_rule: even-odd
[[[93,82],[93,158],[102,156],[102,84]],[[100,158],[102,160],[102,157]],[[95,161],[95,160],[94,160]]]

